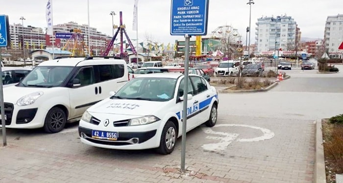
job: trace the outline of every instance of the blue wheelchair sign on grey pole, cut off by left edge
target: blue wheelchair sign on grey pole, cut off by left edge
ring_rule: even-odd
[[[1,47],[6,47],[7,46],[7,24],[6,24],[6,16],[5,15],[0,15],[0,61],[2,62],[2,50]],[[1,64],[2,65],[2,64]],[[0,65],[0,117],[1,117],[1,128],[2,128],[2,142],[3,146],[7,145],[6,142],[6,117],[5,117],[5,106],[3,102],[3,86],[2,86],[2,71],[1,71],[1,66]]]

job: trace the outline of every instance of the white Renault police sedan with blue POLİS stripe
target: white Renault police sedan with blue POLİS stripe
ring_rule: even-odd
[[[182,133],[184,75],[157,73],[130,80],[88,108],[79,124],[81,142],[100,148],[157,148],[172,153]],[[189,75],[187,131],[215,126],[218,94],[201,76]]]

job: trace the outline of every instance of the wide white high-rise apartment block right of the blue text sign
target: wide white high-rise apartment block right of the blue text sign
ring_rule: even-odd
[[[256,26],[256,52],[296,50],[300,43],[300,28],[290,16],[261,17]]]

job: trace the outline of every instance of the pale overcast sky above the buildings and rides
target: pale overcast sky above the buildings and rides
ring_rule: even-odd
[[[123,12],[123,24],[130,39],[136,39],[137,31],[132,30],[134,0],[52,0],[53,25],[70,21],[88,24],[87,1],[89,1],[90,26],[112,35],[114,24],[119,25],[119,12]],[[0,14],[9,16],[10,24],[47,27],[46,5],[48,0],[0,0]],[[219,26],[238,29],[245,42],[246,27],[249,26],[248,0],[209,0],[207,36]],[[343,0],[254,0],[251,5],[251,37],[255,42],[255,28],[258,18],[270,16],[291,16],[301,31],[301,37],[323,38],[327,16],[343,14]],[[138,38],[173,44],[184,40],[183,36],[170,35],[171,0],[138,1]],[[125,40],[125,38],[124,38]],[[195,36],[191,38],[195,40]]]

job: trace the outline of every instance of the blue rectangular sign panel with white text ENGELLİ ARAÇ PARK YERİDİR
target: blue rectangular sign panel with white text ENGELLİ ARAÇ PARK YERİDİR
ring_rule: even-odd
[[[171,35],[206,35],[209,0],[172,0]]]

